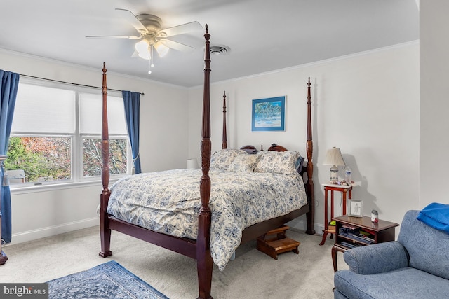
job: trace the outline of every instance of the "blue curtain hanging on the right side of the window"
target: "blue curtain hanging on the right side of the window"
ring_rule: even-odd
[[[135,174],[140,174],[139,157],[139,126],[140,126],[140,93],[123,90],[123,103],[125,104],[126,127],[133,151]]]

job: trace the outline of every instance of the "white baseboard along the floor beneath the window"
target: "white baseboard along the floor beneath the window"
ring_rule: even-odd
[[[83,219],[80,221],[73,221],[69,223],[63,223],[60,225],[53,225],[47,228],[39,228],[37,230],[18,232],[17,234],[12,235],[11,243],[4,245],[4,247],[23,242],[33,241],[35,239],[41,239],[43,237],[51,237],[54,235],[63,234],[65,232],[72,232],[74,230],[82,230],[83,228],[91,228],[92,226],[98,225],[99,223],[98,221],[99,221],[98,217],[93,217]]]

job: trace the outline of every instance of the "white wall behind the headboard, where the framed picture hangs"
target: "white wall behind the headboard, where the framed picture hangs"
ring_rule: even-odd
[[[405,211],[419,207],[419,71],[419,43],[413,42],[214,84],[213,151],[221,148],[226,90],[229,148],[262,144],[267,149],[276,142],[305,156],[310,76],[317,232],[324,225],[321,183],[328,182],[330,168],[322,163],[333,146],[341,148],[352,169],[358,183],[353,198],[363,200],[363,214],[377,209],[380,218],[400,223]],[[286,131],[251,132],[252,99],[280,95],[286,95]],[[198,136],[192,137],[189,156],[197,152],[201,137],[201,100],[202,88],[189,90],[189,134]],[[340,196],[335,198],[339,207]],[[302,216],[295,225],[303,228],[304,220]]]

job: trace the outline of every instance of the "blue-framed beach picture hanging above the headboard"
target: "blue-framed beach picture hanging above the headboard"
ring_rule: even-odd
[[[286,97],[253,99],[252,131],[285,131]]]

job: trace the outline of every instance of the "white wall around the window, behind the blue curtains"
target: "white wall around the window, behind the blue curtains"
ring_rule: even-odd
[[[19,55],[0,50],[1,69],[29,76],[84,85],[102,85],[98,69]],[[107,65],[106,65],[107,67]],[[140,157],[142,171],[185,167],[187,160],[187,90],[107,71],[107,86],[116,90],[144,92],[140,97]],[[101,90],[98,89],[101,93]],[[98,116],[101,117],[101,116]],[[111,122],[113,120],[109,120]],[[98,225],[96,207],[102,183],[11,194],[11,244]]]

